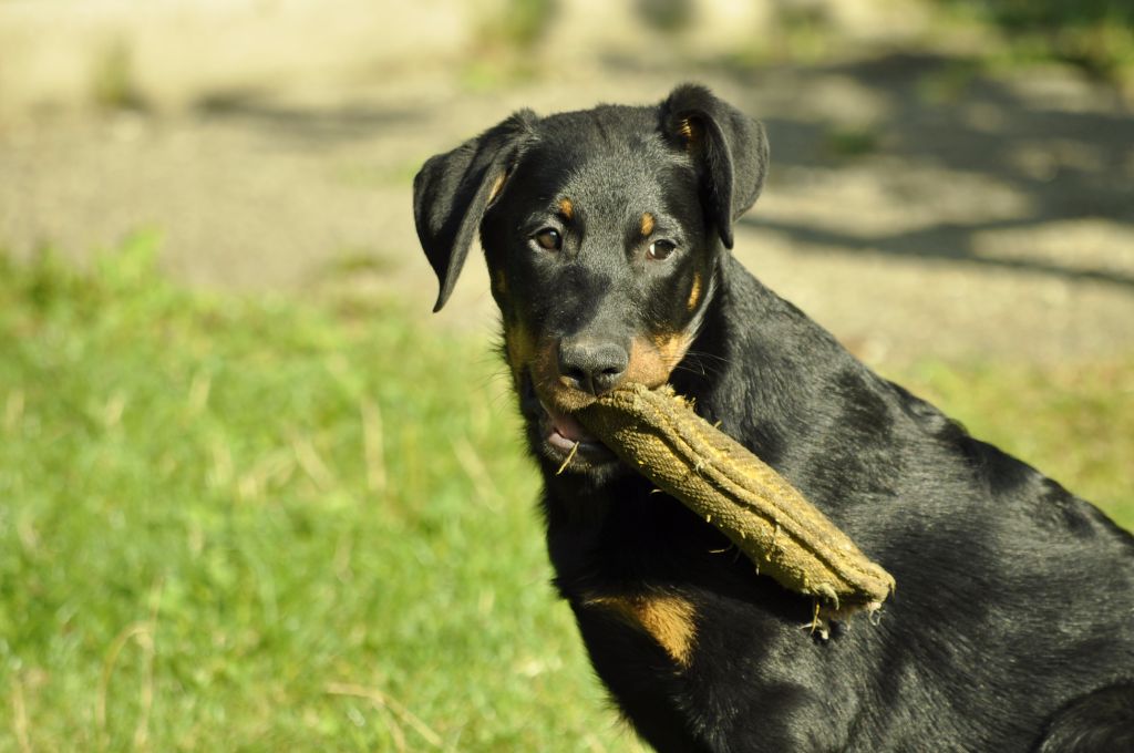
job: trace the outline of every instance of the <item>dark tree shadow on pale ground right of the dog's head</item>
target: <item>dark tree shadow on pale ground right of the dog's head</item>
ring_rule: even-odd
[[[950,176],[962,176],[1012,192],[1024,208],[1013,217],[972,221],[953,217],[894,231],[819,227],[759,212],[744,220],[747,225],[786,234],[801,242],[803,251],[838,246],[1134,288],[1134,268],[1122,260],[1084,266],[1074,248],[1064,252],[1065,259],[1051,259],[1030,255],[1027,249],[1007,255],[982,252],[975,242],[988,231],[1077,220],[1134,229],[1134,118],[1106,87],[1058,76],[1046,81],[1042,74],[1026,81],[998,79],[963,60],[937,56],[892,54],[790,71],[799,98],[822,95],[830,88],[822,84],[827,82],[865,93],[877,104],[866,115],[843,115],[832,111],[837,103],[796,101],[789,108],[770,108],[762,101],[760,79],[780,71],[734,68],[726,74],[745,86],[755,84],[751,102],[743,103],[747,109],[775,113],[764,122],[773,170],[785,177],[781,188],[794,175],[811,169],[885,170],[891,174],[882,185],[892,206],[932,204],[934,196],[924,195],[925,186],[923,195],[912,195],[902,176],[932,170],[940,176],[942,204],[956,198]],[[788,111],[794,112],[780,115]]]

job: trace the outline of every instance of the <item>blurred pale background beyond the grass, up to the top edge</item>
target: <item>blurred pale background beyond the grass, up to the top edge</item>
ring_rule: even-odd
[[[521,107],[699,81],[771,137],[741,254],[865,355],[1102,355],[1134,337],[1105,324],[1134,321],[1132,18],[1106,0],[3,0],[0,238],[85,259],[155,228],[194,285],[303,290],[346,266],[423,303],[407,189],[428,156]],[[479,325],[486,286],[458,291],[442,321]]]

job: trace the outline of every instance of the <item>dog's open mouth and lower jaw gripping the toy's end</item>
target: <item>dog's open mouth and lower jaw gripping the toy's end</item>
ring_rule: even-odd
[[[531,373],[524,374],[521,409],[535,451],[556,464],[560,472],[585,472],[618,459],[578,418],[542,399]]]

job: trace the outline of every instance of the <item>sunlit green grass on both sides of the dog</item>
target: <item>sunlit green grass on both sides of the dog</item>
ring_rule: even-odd
[[[490,344],[154,248],[0,261],[0,751],[633,748]],[[905,375],[1129,525],[1132,372]]]

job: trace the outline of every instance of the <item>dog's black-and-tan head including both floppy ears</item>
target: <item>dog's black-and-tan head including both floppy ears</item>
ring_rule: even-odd
[[[625,381],[669,379],[767,163],[760,124],[686,85],[655,108],[524,110],[417,174],[417,234],[441,285],[434,311],[479,229],[540,456],[562,462],[575,449],[574,469],[610,460],[570,414]]]

